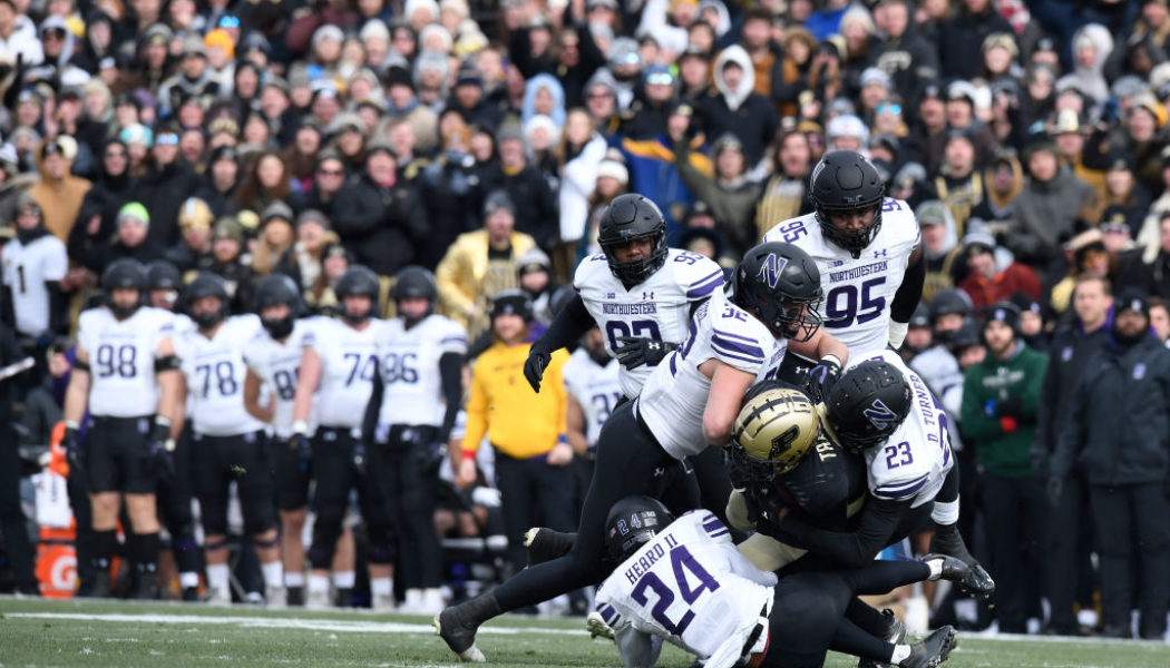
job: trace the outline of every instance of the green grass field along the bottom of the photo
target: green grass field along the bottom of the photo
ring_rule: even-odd
[[[620,666],[612,642],[590,640],[581,620],[505,617],[479,646],[493,666]],[[686,668],[673,647],[660,666]],[[211,608],[181,604],[0,598],[0,666],[370,666],[457,664],[421,617],[369,612]],[[832,654],[827,666],[855,659]],[[1170,668],[1170,645],[961,635],[945,666]]]

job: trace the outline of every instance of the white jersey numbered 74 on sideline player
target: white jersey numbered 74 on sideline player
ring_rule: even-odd
[[[321,358],[317,387],[317,423],[352,429],[360,427],[378,373],[378,343],[386,321],[373,318],[358,331],[338,319],[322,319],[311,347]]]

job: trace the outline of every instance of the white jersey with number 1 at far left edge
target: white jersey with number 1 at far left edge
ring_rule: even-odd
[[[60,281],[69,271],[66,245],[51,234],[28,246],[13,239],[4,247],[4,284],[12,290],[16,331],[36,336],[49,329],[49,290],[46,282]]]

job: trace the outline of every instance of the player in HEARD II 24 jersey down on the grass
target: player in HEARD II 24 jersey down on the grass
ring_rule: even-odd
[[[805,439],[806,450],[812,435]],[[800,448],[787,454],[799,457]],[[957,579],[966,564],[943,555],[917,562],[870,562],[854,570],[776,576],[752,566],[730,531],[706,510],[677,519],[656,500],[626,497],[606,519],[606,546],[620,564],[597,594],[600,620],[614,632],[622,663],[649,668],[666,640],[706,668],[783,666],[814,668],[835,642],[846,605],[858,594],[882,594],[922,580]],[[591,615],[591,622],[594,618]],[[592,626],[592,625],[591,625]],[[860,629],[858,629],[860,632]],[[862,657],[902,667],[947,660],[955,629],[944,626],[914,646],[870,636]]]

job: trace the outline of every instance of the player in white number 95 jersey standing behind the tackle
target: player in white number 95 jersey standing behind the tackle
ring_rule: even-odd
[[[885,197],[878,168],[856,151],[826,153],[811,183],[815,211],[778,223],[764,241],[799,246],[815,260],[825,289],[824,326],[851,354],[901,347],[927,276],[914,211]],[[840,369],[821,369],[814,378],[825,373]],[[799,370],[782,378],[799,379]]]

